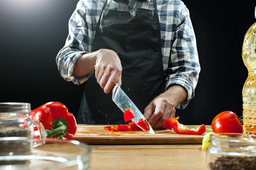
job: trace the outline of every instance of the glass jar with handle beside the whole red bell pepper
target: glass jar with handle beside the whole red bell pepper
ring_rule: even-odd
[[[27,137],[31,146],[40,145],[43,140],[34,141],[34,127],[38,129],[38,138],[45,139],[45,128],[37,121],[29,118],[31,106],[29,103],[0,103],[0,137]],[[11,144],[1,143],[0,152],[15,152]],[[18,146],[17,146],[18,147]],[[19,147],[18,147],[19,148]]]

